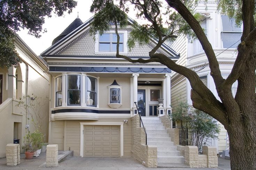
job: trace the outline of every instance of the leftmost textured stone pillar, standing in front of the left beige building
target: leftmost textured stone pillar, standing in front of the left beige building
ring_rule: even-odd
[[[6,145],[6,164],[7,166],[16,166],[21,163],[20,144]]]

